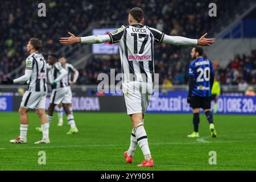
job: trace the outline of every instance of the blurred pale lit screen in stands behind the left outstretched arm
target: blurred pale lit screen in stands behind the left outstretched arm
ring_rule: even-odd
[[[106,35],[110,32],[114,32],[117,28],[96,28],[93,29],[93,35]],[[108,42],[103,44],[93,44],[92,52],[94,54],[108,54],[113,55],[118,52],[118,44],[110,44]]]

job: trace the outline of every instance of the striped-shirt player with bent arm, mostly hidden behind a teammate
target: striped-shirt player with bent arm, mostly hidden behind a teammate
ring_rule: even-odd
[[[65,83],[66,83],[66,85],[68,85],[67,86],[68,87],[68,93],[69,93],[69,97],[72,101],[73,96],[72,96],[71,88],[72,88],[73,85],[76,84],[76,81],[79,78],[79,71],[77,71],[77,69],[75,67],[73,67],[72,64],[67,63],[67,59],[64,56],[59,57],[59,62],[61,63],[62,67],[68,73],[66,78],[65,78]],[[62,104],[59,104],[57,106],[56,110],[57,110],[57,114],[58,114],[58,117],[59,117],[58,126],[62,126],[63,125],[63,112],[62,112],[63,111],[63,106],[62,106]],[[72,113],[72,111],[73,111],[72,104],[69,105],[69,110]]]

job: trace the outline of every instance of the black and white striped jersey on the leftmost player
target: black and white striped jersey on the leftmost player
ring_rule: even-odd
[[[34,52],[26,59],[26,69],[32,70],[28,91],[47,92],[46,60],[39,52]]]

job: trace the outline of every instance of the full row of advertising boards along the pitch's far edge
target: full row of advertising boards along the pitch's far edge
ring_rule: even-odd
[[[20,96],[0,97],[0,111],[18,111],[21,100]],[[126,112],[122,96],[75,96],[72,104],[74,111]],[[49,106],[49,97],[46,106]],[[192,113],[191,107],[187,104],[187,92],[174,91],[168,96],[159,96],[156,100],[151,100],[147,113]],[[256,114],[256,97],[220,96],[217,113]]]

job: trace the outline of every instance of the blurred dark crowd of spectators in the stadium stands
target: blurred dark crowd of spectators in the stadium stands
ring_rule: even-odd
[[[245,0],[247,1],[247,0]],[[38,16],[38,4],[46,3],[47,16]],[[145,24],[169,35],[200,38],[204,32],[217,30],[217,18],[209,18],[209,3],[218,5],[218,16],[230,18],[241,1],[234,0],[16,0],[1,1],[0,11],[0,80],[15,68],[24,64],[28,56],[26,45],[31,37],[43,41],[41,52],[47,56],[61,45],[59,38],[67,31],[79,34],[92,22],[123,21],[131,7],[142,7]],[[186,84],[189,55],[181,53],[181,47],[167,44],[155,45],[155,71],[160,74],[160,84]],[[222,84],[255,84],[255,53],[236,56],[227,68],[218,68]],[[114,68],[121,72],[118,56],[94,56],[85,68],[80,69],[79,84],[96,84],[99,73]]]

